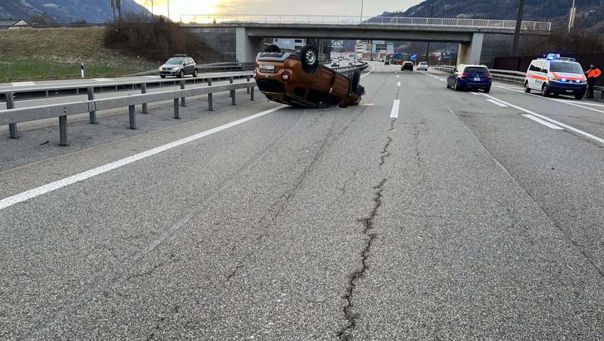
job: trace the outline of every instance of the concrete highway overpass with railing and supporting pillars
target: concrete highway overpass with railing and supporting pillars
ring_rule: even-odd
[[[458,63],[479,64],[485,35],[514,34],[516,21],[458,18],[368,18],[332,16],[227,16],[214,22],[207,16],[186,16],[182,26],[200,33],[234,32],[234,50],[240,63],[253,62],[267,37],[372,39],[459,43]],[[549,32],[550,23],[523,21],[524,33]]]

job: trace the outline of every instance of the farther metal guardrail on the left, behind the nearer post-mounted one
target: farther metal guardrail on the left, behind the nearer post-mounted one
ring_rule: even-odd
[[[166,85],[183,86],[182,83],[201,83],[207,82],[207,80],[230,80],[252,77],[252,72],[241,72],[234,75],[210,75],[209,77],[197,77],[197,78],[153,78],[149,80],[131,80],[131,81],[119,81],[119,82],[95,82],[94,84],[82,84],[82,85],[42,85],[40,87],[2,87],[0,88],[0,99],[6,99],[11,96],[15,99],[36,99],[43,97],[64,97],[74,96],[78,94],[88,94],[91,99],[95,98],[95,94],[99,92],[119,92],[119,91],[132,91],[141,90],[141,93],[145,93],[147,88],[153,87],[164,87]],[[99,83],[99,84],[97,84]],[[20,96],[16,96],[20,94]]]

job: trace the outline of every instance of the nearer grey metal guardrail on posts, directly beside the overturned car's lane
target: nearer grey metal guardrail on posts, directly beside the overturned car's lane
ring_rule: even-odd
[[[0,125],[9,125],[9,136],[11,139],[18,139],[17,124],[25,121],[35,121],[38,119],[49,119],[53,117],[59,118],[59,137],[60,145],[68,146],[68,129],[67,129],[67,117],[73,114],[85,114],[90,115],[90,123],[97,123],[96,112],[97,110],[116,109],[122,107],[128,107],[129,112],[129,128],[136,129],[136,114],[135,106],[142,105],[142,112],[147,112],[147,104],[151,102],[161,102],[166,100],[173,100],[174,102],[174,114],[173,118],[180,118],[180,108],[186,107],[186,97],[200,96],[207,94],[208,110],[213,111],[213,94],[216,92],[230,92],[231,104],[235,105],[235,91],[240,89],[247,89],[250,98],[254,100],[254,87],[256,82],[242,82],[233,83],[231,80],[230,84],[227,85],[212,85],[212,80],[207,80],[207,87],[195,87],[191,89],[185,89],[184,83],[181,83],[181,90],[171,90],[163,92],[153,92],[151,94],[136,94],[129,96],[112,97],[105,99],[88,99],[84,102],[70,102],[62,104],[50,104],[38,107],[26,107],[14,109],[14,101],[12,97],[7,98],[6,106],[9,109],[0,110]]]

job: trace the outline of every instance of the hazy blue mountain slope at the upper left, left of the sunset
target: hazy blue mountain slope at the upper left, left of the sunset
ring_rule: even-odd
[[[147,10],[134,2],[122,0],[122,13],[146,13]],[[88,23],[104,23],[113,20],[109,0],[2,0],[0,18],[22,18],[43,15],[52,21],[70,23],[84,19]]]

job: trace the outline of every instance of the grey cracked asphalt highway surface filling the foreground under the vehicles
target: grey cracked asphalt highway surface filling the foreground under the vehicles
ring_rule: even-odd
[[[0,139],[0,339],[603,340],[604,107],[374,67]]]

